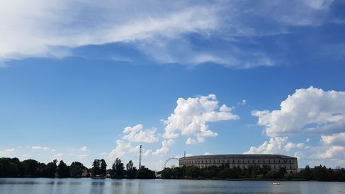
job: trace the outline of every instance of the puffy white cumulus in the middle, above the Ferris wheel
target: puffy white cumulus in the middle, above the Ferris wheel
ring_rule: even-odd
[[[164,120],[164,138],[177,138],[181,135],[193,135],[197,142],[202,143],[206,137],[215,137],[217,133],[208,128],[208,122],[219,122],[224,120],[239,119],[231,113],[232,109],[226,105],[219,108],[219,101],[215,95],[200,96],[188,99],[177,99],[177,106],[174,113]],[[186,143],[195,142],[192,139]]]

